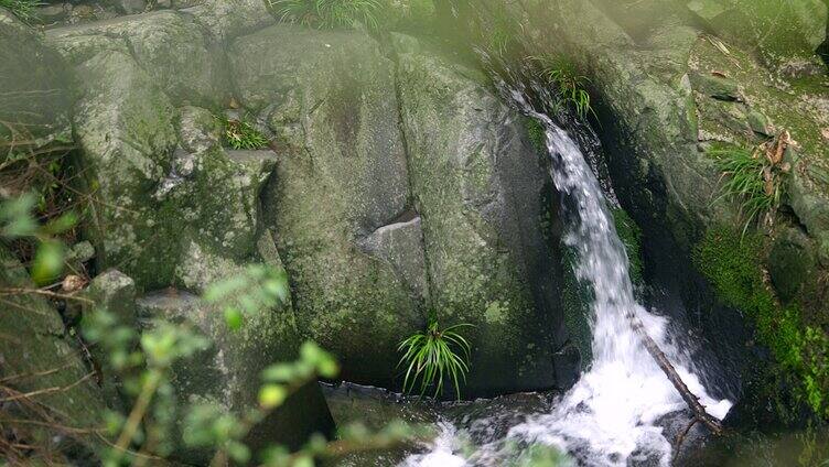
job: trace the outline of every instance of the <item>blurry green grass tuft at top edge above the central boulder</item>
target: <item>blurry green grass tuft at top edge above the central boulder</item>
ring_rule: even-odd
[[[378,29],[379,0],[268,0],[280,21],[320,29]]]

